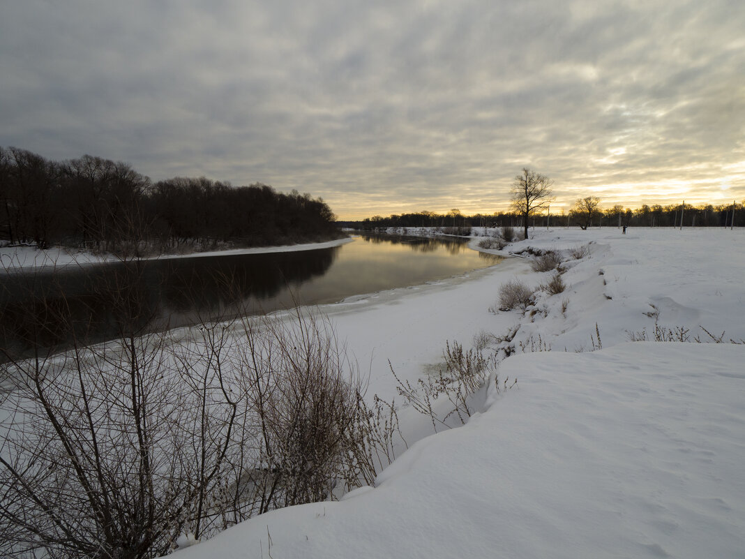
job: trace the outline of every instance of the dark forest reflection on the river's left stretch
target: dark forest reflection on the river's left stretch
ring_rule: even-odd
[[[292,306],[290,286],[322,276],[340,247],[292,253],[115,262],[9,274],[0,288],[0,347],[92,344],[148,330]]]

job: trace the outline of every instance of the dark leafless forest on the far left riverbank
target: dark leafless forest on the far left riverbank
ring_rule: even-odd
[[[112,253],[191,251],[334,239],[321,198],[205,177],[151,183],[129,164],[52,161],[0,147],[0,241]]]

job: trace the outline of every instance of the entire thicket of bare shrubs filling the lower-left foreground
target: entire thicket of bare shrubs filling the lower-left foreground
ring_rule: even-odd
[[[120,293],[115,341],[34,359],[0,347],[1,556],[159,557],[182,534],[359,484],[365,385],[328,321],[139,335],[145,307]],[[46,312],[70,326],[64,304]]]

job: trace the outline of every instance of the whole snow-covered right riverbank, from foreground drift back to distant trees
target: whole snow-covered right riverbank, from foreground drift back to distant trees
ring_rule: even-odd
[[[741,557],[745,345],[729,340],[745,338],[744,233],[536,230],[504,252],[559,251],[567,289],[537,292],[526,313],[489,307],[510,279],[548,280],[527,259],[323,307],[370,369],[370,394],[395,396],[388,360],[413,380],[447,340],[507,332],[519,355],[499,374],[519,390],[413,444],[375,488],[256,517],[179,556]]]

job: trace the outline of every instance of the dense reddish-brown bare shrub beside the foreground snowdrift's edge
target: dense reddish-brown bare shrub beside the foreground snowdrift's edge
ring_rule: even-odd
[[[364,382],[325,318],[244,323],[241,378],[261,426],[256,465],[276,473],[259,512],[326,499],[346,479]]]

